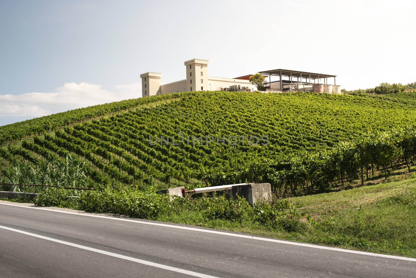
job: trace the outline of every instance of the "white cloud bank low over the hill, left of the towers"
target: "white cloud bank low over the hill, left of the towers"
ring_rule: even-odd
[[[141,97],[141,83],[119,84],[114,88],[114,92],[109,92],[101,85],[71,82],[55,89],[55,92],[3,94],[0,95],[0,117],[8,117],[7,122],[11,123],[12,117],[31,119],[69,109]]]

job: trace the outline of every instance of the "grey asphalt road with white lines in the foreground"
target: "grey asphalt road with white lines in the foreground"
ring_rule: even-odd
[[[416,260],[0,203],[0,277],[192,276],[414,278]]]

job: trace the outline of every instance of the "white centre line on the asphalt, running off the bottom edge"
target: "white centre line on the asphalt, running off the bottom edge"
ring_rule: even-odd
[[[41,235],[38,235],[36,233],[29,233],[29,232],[25,232],[25,231],[13,229],[13,228],[5,227],[5,226],[0,226],[0,228],[5,229],[5,230],[9,230],[9,231],[13,231],[13,232],[17,232],[17,233],[22,233],[22,234],[25,234],[27,236],[34,236],[36,238],[42,238],[42,239],[45,239],[47,241],[53,241],[53,242],[61,243],[61,244],[64,244],[64,245],[76,247],[76,248],[79,248],[79,249],[84,249],[84,250],[92,251],[92,252],[95,252],[95,253],[100,253],[100,254],[104,254],[104,255],[107,255],[107,256],[124,259],[124,260],[127,260],[127,261],[133,261],[133,262],[136,262],[136,263],[141,263],[141,264],[144,264],[146,266],[153,266],[153,267],[156,267],[156,268],[162,268],[162,269],[166,269],[168,271],[174,271],[174,272],[183,273],[183,274],[190,275],[190,276],[195,276],[195,277],[218,278],[216,276],[210,276],[210,275],[206,275],[206,274],[203,274],[203,273],[188,271],[186,269],[176,268],[176,267],[173,267],[173,266],[166,266],[166,265],[162,265],[160,263],[153,263],[153,262],[150,262],[150,261],[144,261],[144,260],[140,260],[140,259],[137,259],[137,258],[124,256],[124,255],[120,255],[120,254],[117,254],[117,253],[112,253],[112,252],[108,252],[108,251],[104,251],[104,250],[100,250],[100,249],[96,249],[96,248],[92,248],[92,247],[88,247],[88,246],[83,246],[83,245],[79,245],[79,244],[68,242],[68,241],[61,241],[59,239],[50,238],[50,237],[47,237],[47,236],[41,236]]]

